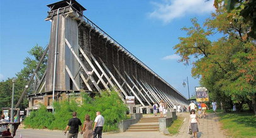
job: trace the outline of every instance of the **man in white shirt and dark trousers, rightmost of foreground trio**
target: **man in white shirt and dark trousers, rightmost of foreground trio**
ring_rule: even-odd
[[[94,120],[94,128],[93,128],[93,131],[94,131],[94,134],[93,134],[93,137],[94,138],[101,138],[101,134],[103,132],[103,125],[104,125],[104,117],[103,115],[101,115],[101,112],[96,112],[96,115],[97,117],[95,118]]]

